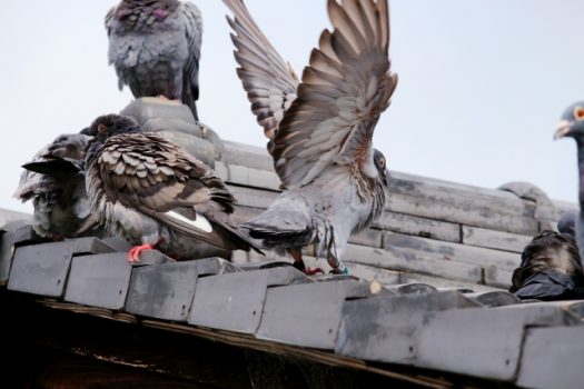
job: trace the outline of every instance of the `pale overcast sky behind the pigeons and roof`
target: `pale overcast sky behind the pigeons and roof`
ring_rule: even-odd
[[[115,1],[28,0],[2,4],[0,207],[20,164],[55,137],[77,132],[130,100],[107,63],[103,16]],[[235,72],[227,12],[196,2],[205,18],[199,116],[224,139],[265,139]],[[298,73],[329,26],[325,0],[247,0]],[[575,143],[553,141],[562,110],[584,99],[582,0],[394,0],[393,103],[374,142],[389,168],[481,187],[533,182],[576,201]]]

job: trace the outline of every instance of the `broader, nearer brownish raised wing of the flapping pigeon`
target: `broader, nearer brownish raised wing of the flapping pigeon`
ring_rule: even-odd
[[[334,30],[321,33],[274,139],[276,171],[287,188],[335,163],[376,174],[373,131],[397,83],[387,0],[328,0],[328,13]]]

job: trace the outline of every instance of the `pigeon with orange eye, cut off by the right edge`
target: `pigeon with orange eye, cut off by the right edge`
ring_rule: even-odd
[[[578,158],[578,199],[580,212],[576,217],[576,242],[580,248],[580,257],[584,258],[584,101],[575,102],[562,114],[554,139],[573,138],[577,146]]]

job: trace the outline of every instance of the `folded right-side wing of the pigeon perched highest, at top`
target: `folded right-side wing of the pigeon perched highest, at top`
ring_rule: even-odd
[[[179,11],[186,20],[185,31],[189,48],[189,57],[185,66],[185,77],[182,86],[184,102],[189,107],[195,107],[195,101],[199,99],[199,59],[202,37],[202,18],[199,9],[191,2],[182,2]]]

